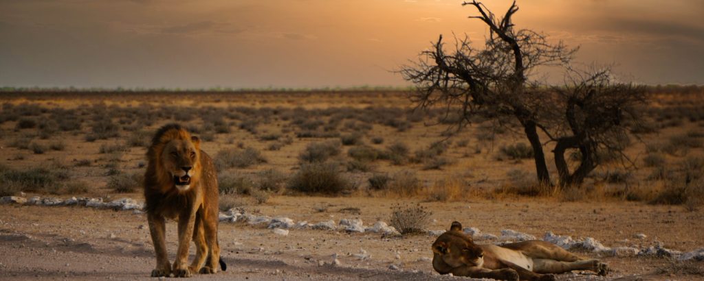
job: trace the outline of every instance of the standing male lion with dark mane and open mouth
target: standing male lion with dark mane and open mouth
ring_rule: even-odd
[[[156,252],[152,277],[216,273],[218,263],[227,269],[220,261],[218,245],[218,178],[213,159],[200,149],[200,143],[182,126],[168,124],[156,131],[146,152],[144,199]],[[165,218],[176,217],[178,250],[172,266],[164,240]],[[187,266],[191,238],[196,243],[196,258]]]

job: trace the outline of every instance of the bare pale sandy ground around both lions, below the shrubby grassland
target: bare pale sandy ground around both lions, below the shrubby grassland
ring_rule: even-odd
[[[414,202],[377,198],[275,197],[264,205],[244,206],[268,216],[309,222],[360,218],[365,225],[389,221],[392,204]],[[605,246],[648,246],[691,251],[704,246],[703,212],[624,202],[565,203],[549,200],[422,203],[433,211],[429,229],[452,220],[498,235],[512,228],[542,237],[553,231],[594,237]],[[325,207],[325,211],[319,211]],[[340,210],[359,207],[360,214]],[[174,222],[168,223],[168,249],[175,252]],[[643,240],[633,237],[646,234]],[[228,280],[459,280],[434,273],[429,245],[434,237],[382,237],[376,233],[290,230],[281,236],[241,223],[220,224],[220,244],[228,270],[194,279]],[[481,242],[481,241],[479,241]],[[193,252],[191,247],[191,253]],[[354,254],[364,249],[370,259]],[[327,265],[337,254],[339,266]],[[398,259],[397,255],[398,254]],[[560,275],[560,280],[700,280],[703,262],[655,258],[601,258],[612,267],[605,278],[589,273]],[[143,214],[85,207],[0,206],[0,275],[3,280],[153,280],[155,259]],[[321,263],[326,265],[321,266]],[[398,266],[391,270],[389,266]]]

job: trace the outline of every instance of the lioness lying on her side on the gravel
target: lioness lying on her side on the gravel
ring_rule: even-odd
[[[455,276],[555,280],[551,273],[592,270],[605,275],[608,270],[605,263],[581,258],[550,242],[532,240],[501,246],[474,244],[457,221],[435,240],[432,247],[435,271]]]

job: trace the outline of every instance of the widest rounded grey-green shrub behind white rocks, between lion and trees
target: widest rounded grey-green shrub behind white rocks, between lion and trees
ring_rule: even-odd
[[[336,164],[306,163],[291,177],[288,188],[308,194],[339,195],[353,189],[348,178],[341,176]]]

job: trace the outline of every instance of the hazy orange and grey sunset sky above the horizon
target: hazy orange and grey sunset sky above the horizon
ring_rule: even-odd
[[[0,0],[0,86],[322,87],[392,72],[439,34],[486,28],[455,0]],[[486,0],[503,14],[510,1]],[[519,0],[517,27],[646,84],[704,84],[701,0]]]

